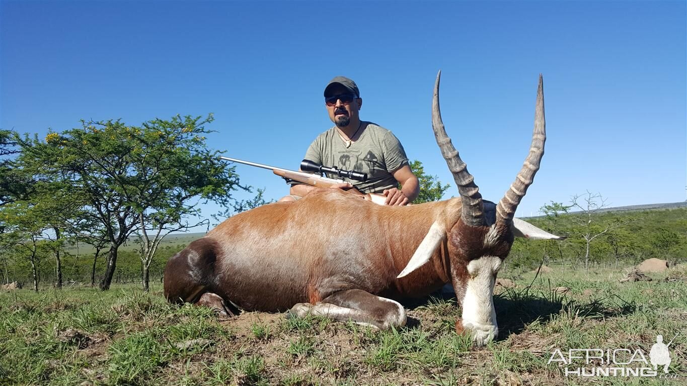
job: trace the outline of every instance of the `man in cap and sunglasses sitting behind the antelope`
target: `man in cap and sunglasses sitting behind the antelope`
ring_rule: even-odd
[[[335,77],[324,89],[324,101],[334,127],[315,138],[305,159],[368,174],[365,182],[337,184],[332,186],[334,189],[355,187],[362,193],[381,193],[386,196],[387,205],[413,202],[420,193],[420,182],[410,169],[405,150],[392,132],[360,120],[363,99],[355,82],[348,77]],[[399,183],[402,189],[398,189]],[[293,184],[291,195],[280,201],[297,200],[313,189],[314,186]]]

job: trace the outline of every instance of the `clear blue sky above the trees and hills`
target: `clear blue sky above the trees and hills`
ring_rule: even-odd
[[[0,128],[44,136],[80,119],[213,112],[213,147],[297,169],[331,126],[324,86],[346,75],[361,118],[449,182],[448,198],[455,183],[431,133],[441,69],[447,132],[497,201],[527,155],[543,73],[546,154],[517,215],[587,190],[611,206],[677,202],[686,36],[685,1],[3,0]],[[268,198],[288,191],[269,171],[236,171]]]

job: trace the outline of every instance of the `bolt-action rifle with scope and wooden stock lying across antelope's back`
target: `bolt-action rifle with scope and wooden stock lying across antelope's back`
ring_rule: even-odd
[[[311,185],[311,186],[320,186],[320,187],[328,187],[332,186],[334,184],[342,184],[346,183],[344,180],[336,180],[334,178],[328,178],[328,177],[322,177],[318,176],[317,174],[313,173],[330,173],[335,176],[339,177],[346,177],[350,178],[351,180],[356,180],[356,181],[366,181],[368,180],[368,175],[366,173],[361,173],[359,171],[352,171],[352,170],[343,170],[339,169],[337,167],[326,167],[319,165],[316,162],[313,162],[311,160],[303,160],[300,165],[301,171],[294,171],[294,170],[289,170],[289,169],[282,169],[280,167],[273,167],[269,165],[262,165],[256,162],[250,162],[250,161],[245,161],[245,160],[239,160],[237,158],[229,158],[229,157],[220,157],[221,160],[226,160],[226,161],[232,161],[232,162],[238,162],[242,163],[244,165],[250,165],[254,167],[262,167],[262,169],[269,169],[272,171],[272,173],[275,173],[277,176],[280,176],[281,178],[284,178],[286,182],[302,182],[303,184]],[[311,173],[307,173],[307,172]],[[372,201],[375,204],[380,204],[384,205],[386,202],[386,196],[381,195],[381,194],[376,194],[376,193],[362,193],[358,189],[351,188],[347,190],[349,193],[352,193],[354,195],[359,195],[361,198]]]

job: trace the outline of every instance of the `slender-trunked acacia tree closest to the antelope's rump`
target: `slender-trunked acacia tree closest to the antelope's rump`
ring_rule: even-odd
[[[209,118],[211,119],[211,117]],[[227,205],[227,186],[240,186],[233,167],[225,174],[223,184],[215,182],[223,177],[227,165],[216,160],[216,154],[205,148],[206,131],[200,127],[207,121],[173,117],[170,121],[155,119],[143,124],[137,133],[146,146],[134,149],[129,157],[133,172],[144,181],[136,186],[135,195],[141,197],[134,210],[137,216],[137,241],[142,263],[142,281],[148,291],[149,268],[159,243],[170,232],[185,231],[207,220],[200,219],[199,202],[212,198]],[[243,189],[247,189],[240,186]],[[226,190],[228,193],[228,190]],[[191,219],[196,219],[192,221]]]

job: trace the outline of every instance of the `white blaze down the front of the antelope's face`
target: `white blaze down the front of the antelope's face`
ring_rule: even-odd
[[[471,330],[475,343],[482,346],[498,335],[496,311],[494,309],[494,285],[501,259],[496,256],[482,256],[471,261],[467,270],[470,274],[462,304],[462,324]]]

